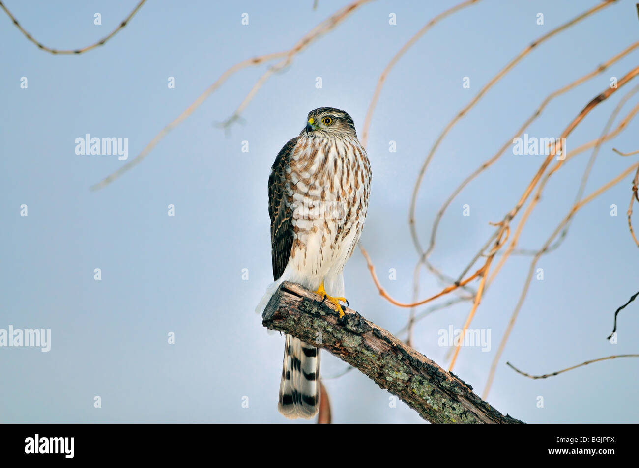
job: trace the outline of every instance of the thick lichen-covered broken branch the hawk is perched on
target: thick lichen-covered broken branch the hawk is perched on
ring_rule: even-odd
[[[332,303],[300,285],[282,283],[262,318],[265,327],[315,343],[358,368],[431,423],[521,423],[359,313],[347,309],[340,321]]]

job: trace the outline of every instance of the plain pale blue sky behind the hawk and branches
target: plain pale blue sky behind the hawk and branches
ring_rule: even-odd
[[[3,422],[282,422],[276,409],[283,340],[254,313],[272,280],[266,209],[268,170],[309,110],[350,112],[361,131],[381,70],[431,17],[455,1],[376,1],[313,43],[272,77],[225,135],[229,117],[266,70],[232,77],[148,158],[99,192],[89,186],[123,162],[77,156],[76,137],[128,137],[129,158],[178,116],[229,66],[288,49],[346,2],[153,1],[111,42],[81,56],[38,50],[0,15],[0,328],[52,329],[52,349],[0,349]],[[408,231],[408,200],[417,170],[443,126],[534,38],[597,1],[485,0],[427,33],[390,73],[369,140],[373,192],[362,242],[381,281],[397,299],[412,297],[417,254]],[[6,2],[20,23],[53,47],[84,47],[109,33],[135,1]],[[593,70],[639,36],[635,1],[624,0],[534,50],[443,141],[424,178],[418,206],[422,241],[452,189],[551,91]],[[93,14],[102,14],[102,26]],[[249,26],[240,24],[250,15]],[[389,13],[397,25],[389,26]],[[535,24],[543,12],[544,26]],[[530,135],[558,136],[610,76],[636,66],[639,52],[558,98]],[[20,77],[28,89],[20,89]],[[176,89],[167,89],[167,77]],[[315,78],[323,78],[316,89]],[[471,88],[463,89],[468,76]],[[634,84],[631,84],[634,86]],[[622,94],[602,103],[568,140],[599,136]],[[627,113],[636,98],[627,103]],[[586,193],[637,156],[639,126],[603,145]],[[242,153],[242,140],[250,152]],[[397,153],[389,153],[396,140]],[[571,206],[590,153],[551,179],[521,238],[535,248]],[[432,259],[457,275],[520,197],[540,156],[507,152],[454,201]],[[638,251],[626,209],[631,178],[582,209],[560,249],[543,257],[498,367],[489,402],[527,422],[636,422],[639,360],[616,359],[532,381],[534,374],[587,359],[639,352],[639,303],[620,314],[619,344],[605,340],[617,306],[639,289]],[[29,216],[20,217],[27,204]],[[167,205],[176,216],[167,216]],[[461,216],[470,204],[471,216]],[[610,205],[619,216],[610,216]],[[639,210],[639,207],[636,207]],[[638,215],[639,216],[639,215]],[[636,225],[639,227],[639,218]],[[513,257],[482,301],[473,328],[492,332],[491,352],[462,349],[455,373],[481,393],[491,359],[516,304],[529,259]],[[93,270],[102,269],[102,281]],[[242,269],[249,280],[242,280]],[[396,268],[397,281],[388,279]],[[441,289],[422,274],[420,296]],[[378,296],[358,251],[346,268],[351,306],[390,331],[407,310]],[[437,331],[463,324],[470,304],[419,322],[419,351],[447,366]],[[176,344],[167,344],[167,333]],[[325,376],[344,364],[323,353]],[[419,422],[406,405],[358,372],[328,380],[335,422]],[[102,408],[93,397],[102,397]],[[544,408],[536,397],[544,397]],[[249,408],[242,408],[242,397]]]

